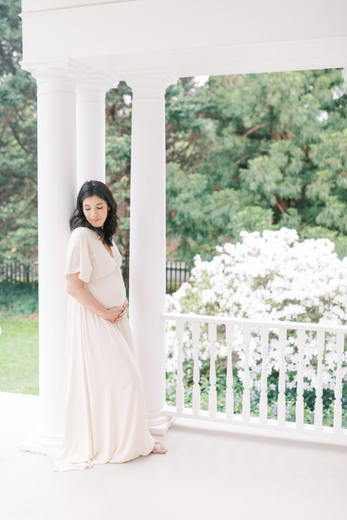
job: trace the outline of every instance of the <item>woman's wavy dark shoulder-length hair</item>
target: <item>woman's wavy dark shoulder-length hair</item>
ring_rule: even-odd
[[[84,199],[87,197],[93,197],[93,195],[97,195],[100,199],[104,199],[107,202],[107,206],[110,208],[103,229],[89,224],[83,213]],[[70,218],[71,231],[76,227],[87,227],[92,229],[96,235],[105,242],[105,244],[111,246],[112,236],[117,231],[119,223],[120,219],[117,215],[117,203],[106,184],[101,183],[99,180],[86,180],[81,186],[77,197],[76,209],[73,216]]]

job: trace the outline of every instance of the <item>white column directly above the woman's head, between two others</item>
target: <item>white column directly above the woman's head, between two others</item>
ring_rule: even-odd
[[[100,76],[87,77],[76,88],[78,191],[85,180],[105,183],[105,96],[109,88]]]

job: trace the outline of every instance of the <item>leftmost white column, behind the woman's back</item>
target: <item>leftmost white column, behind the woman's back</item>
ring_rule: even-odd
[[[52,453],[63,409],[67,292],[63,277],[76,196],[75,73],[47,69],[37,80],[40,419],[21,449]]]

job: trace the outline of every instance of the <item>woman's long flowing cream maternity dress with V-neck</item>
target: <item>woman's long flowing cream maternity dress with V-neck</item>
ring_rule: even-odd
[[[106,308],[125,301],[114,242],[111,250],[112,256],[92,229],[76,228],[65,271],[80,272],[85,289]],[[55,471],[129,461],[148,455],[154,444],[126,314],[111,323],[69,295],[65,411]]]

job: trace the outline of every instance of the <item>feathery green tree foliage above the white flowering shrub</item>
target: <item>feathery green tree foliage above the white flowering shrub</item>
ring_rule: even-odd
[[[191,119],[199,123],[190,136],[195,147],[201,128],[214,133],[203,142],[202,161],[187,166],[177,157],[168,165],[168,230],[179,237],[177,258],[197,251],[208,258],[213,244],[237,239],[241,229],[281,226],[302,238],[325,233],[340,256],[347,254],[341,70],[213,76],[190,89],[189,103],[186,90],[178,94],[175,112],[187,128],[195,128]],[[170,115],[173,101],[166,103]],[[323,180],[325,202],[317,199],[327,195]]]

